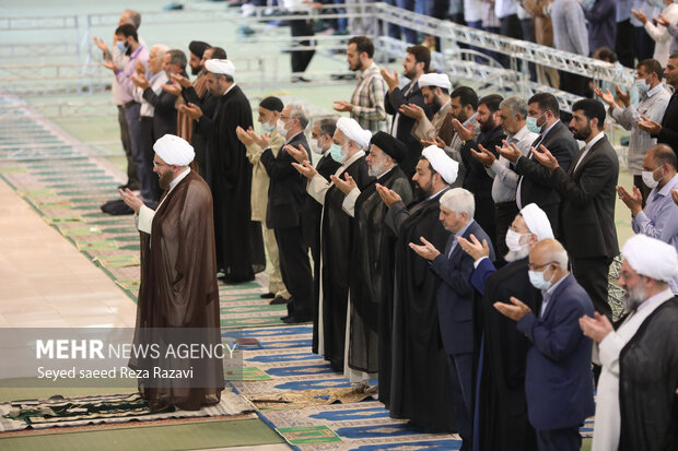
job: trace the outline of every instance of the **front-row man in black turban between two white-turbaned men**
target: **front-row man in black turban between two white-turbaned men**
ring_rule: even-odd
[[[353,249],[349,282],[349,345],[344,355],[344,376],[353,382],[366,381],[379,372],[387,383],[390,363],[390,318],[393,316],[393,273],[395,237],[383,225],[388,207],[376,191],[379,183],[396,191],[408,204],[412,201],[410,182],[398,164],[407,146],[383,131],[370,141],[366,156],[370,176],[375,177],[362,192],[349,177],[332,181],[344,194],[343,210],[353,216]],[[384,356],[388,356],[384,360]],[[385,390],[384,393],[388,393]]]

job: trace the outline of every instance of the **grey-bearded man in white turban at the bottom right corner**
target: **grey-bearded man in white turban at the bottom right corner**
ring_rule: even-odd
[[[678,272],[676,249],[635,235],[627,241],[619,285],[627,290],[621,325],[582,318],[597,346],[598,381],[593,450],[674,450],[678,447],[678,298],[668,282]]]

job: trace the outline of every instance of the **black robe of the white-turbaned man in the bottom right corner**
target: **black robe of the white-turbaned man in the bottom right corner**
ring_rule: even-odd
[[[678,450],[678,297],[656,308],[619,355],[619,451]]]

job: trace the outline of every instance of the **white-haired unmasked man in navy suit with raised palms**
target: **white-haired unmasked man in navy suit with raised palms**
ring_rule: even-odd
[[[461,436],[461,450],[471,449],[474,413],[474,298],[476,290],[470,284],[474,259],[466,253],[457,237],[469,239],[475,235],[491,242],[486,232],[474,221],[476,202],[474,194],[463,188],[454,188],[441,197],[440,221],[452,232],[441,253],[421,237],[423,246],[410,242],[419,256],[431,262],[441,278],[437,288],[437,311],[443,346],[447,353],[454,393],[457,426]],[[491,245],[490,245],[491,246]],[[490,248],[490,259],[494,251]]]

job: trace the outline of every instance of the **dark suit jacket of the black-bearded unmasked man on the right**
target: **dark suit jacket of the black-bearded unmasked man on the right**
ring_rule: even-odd
[[[551,183],[562,195],[560,229],[564,246],[573,259],[612,259],[619,254],[615,227],[619,158],[605,137],[574,170],[580,158],[581,151],[568,173],[557,168],[551,174]]]

